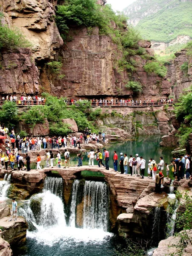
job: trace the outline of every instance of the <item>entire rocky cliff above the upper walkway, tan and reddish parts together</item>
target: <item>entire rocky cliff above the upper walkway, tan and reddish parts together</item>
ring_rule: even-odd
[[[104,5],[105,1],[99,3]],[[125,84],[134,80],[143,85],[138,98],[170,94],[169,81],[153,73],[148,75],[143,69],[147,60],[139,55],[131,57],[137,63],[131,77],[126,71],[119,72],[116,63],[122,52],[111,37],[99,35],[98,28],[90,33],[86,27],[71,26],[63,44],[55,23],[56,4],[54,0],[0,1],[3,23],[20,29],[33,45],[31,51],[2,52],[0,93],[33,94],[46,90],[69,97],[131,96],[133,93],[126,90]],[[145,48],[148,56],[153,55],[150,42],[142,41],[139,47]],[[58,58],[63,63],[63,79],[54,78],[47,66]]]

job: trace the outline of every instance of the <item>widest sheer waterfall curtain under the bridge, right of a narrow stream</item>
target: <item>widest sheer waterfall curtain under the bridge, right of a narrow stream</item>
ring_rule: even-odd
[[[85,181],[83,227],[108,230],[108,186],[104,182]]]

